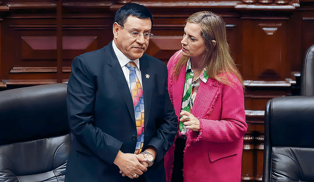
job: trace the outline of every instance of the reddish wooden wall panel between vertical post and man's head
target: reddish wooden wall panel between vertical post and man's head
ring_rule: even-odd
[[[93,17],[91,14],[76,15],[67,12],[64,17],[63,37],[68,37],[68,41],[71,41],[71,43],[64,43],[64,46],[66,46],[63,48],[65,66],[71,66],[72,60],[76,56],[101,49],[113,39],[113,19],[111,15],[96,13]],[[78,42],[81,41],[85,42],[86,49],[79,48]]]

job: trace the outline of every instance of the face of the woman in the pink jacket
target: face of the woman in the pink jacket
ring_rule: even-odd
[[[185,25],[181,44],[183,55],[200,60],[206,50],[206,45],[201,36],[199,24],[187,23]]]

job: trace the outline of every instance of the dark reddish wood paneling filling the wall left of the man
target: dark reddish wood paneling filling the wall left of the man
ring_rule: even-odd
[[[32,83],[38,80],[38,84],[43,83],[40,79],[68,79],[74,57],[100,49],[112,40],[110,4],[7,2],[12,8],[1,22],[2,85],[29,85],[29,79]]]

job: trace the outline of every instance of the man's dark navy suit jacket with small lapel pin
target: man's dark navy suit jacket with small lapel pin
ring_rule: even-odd
[[[143,150],[157,149],[154,165],[144,177],[147,182],[162,182],[163,157],[173,143],[178,120],[167,91],[166,65],[147,54],[139,63],[145,104]],[[113,164],[119,150],[134,153],[137,132],[131,93],[112,42],[73,60],[67,93],[73,141],[65,181],[130,181]]]

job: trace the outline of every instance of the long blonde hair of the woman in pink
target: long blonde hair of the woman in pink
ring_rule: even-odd
[[[229,52],[224,20],[212,12],[201,11],[191,15],[186,19],[185,23],[200,25],[201,36],[207,47],[200,65],[203,68],[206,67],[209,78],[214,78],[219,82],[233,86],[237,81],[230,76],[234,74],[244,88],[241,74]],[[213,40],[216,41],[216,44]],[[184,55],[179,58],[172,73],[175,79],[178,78],[180,70],[187,63],[188,58]],[[227,73],[227,75],[222,73]]]

